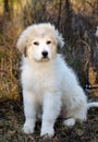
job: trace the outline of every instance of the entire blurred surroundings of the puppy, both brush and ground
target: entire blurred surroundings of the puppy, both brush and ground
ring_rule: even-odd
[[[0,142],[44,142],[40,121],[34,134],[22,132],[24,122],[20,81],[21,54],[16,42],[34,23],[50,22],[65,45],[58,52],[75,70],[89,102],[98,100],[98,0],[0,0]],[[72,86],[73,87],[73,86]],[[73,128],[56,122],[47,142],[98,142],[98,108],[88,110],[86,122]]]

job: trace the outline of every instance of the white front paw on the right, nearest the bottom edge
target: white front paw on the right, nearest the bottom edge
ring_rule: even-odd
[[[40,135],[44,138],[51,138],[54,134],[53,128],[44,128],[41,129]]]

